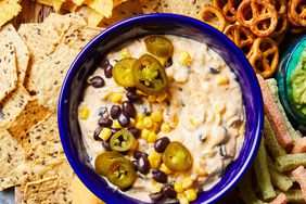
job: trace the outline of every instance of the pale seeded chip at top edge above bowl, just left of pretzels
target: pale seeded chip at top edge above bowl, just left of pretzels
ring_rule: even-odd
[[[206,5],[212,5],[209,0],[163,0],[163,13],[176,13],[191,17],[199,17],[201,10]]]

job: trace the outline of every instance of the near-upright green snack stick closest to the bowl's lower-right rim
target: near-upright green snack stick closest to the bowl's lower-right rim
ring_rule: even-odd
[[[267,152],[264,145],[264,138],[260,141],[257,155],[254,160],[254,168],[255,168],[257,184],[259,187],[264,200],[269,200],[275,197],[277,194],[273,189],[268,169]]]

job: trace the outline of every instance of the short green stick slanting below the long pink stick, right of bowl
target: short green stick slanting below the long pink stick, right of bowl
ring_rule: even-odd
[[[273,158],[286,154],[285,150],[279,144],[277,138],[275,137],[272,127],[266,116],[264,123],[264,137],[267,150],[271,153]]]

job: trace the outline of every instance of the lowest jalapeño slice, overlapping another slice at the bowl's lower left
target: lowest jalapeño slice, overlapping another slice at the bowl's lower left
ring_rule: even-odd
[[[136,180],[136,170],[132,163],[127,160],[115,161],[109,168],[106,177],[110,182],[119,189],[131,186]]]

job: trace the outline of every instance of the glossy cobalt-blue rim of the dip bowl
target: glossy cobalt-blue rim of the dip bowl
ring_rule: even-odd
[[[221,189],[221,191],[217,192],[216,194],[214,194],[208,200],[202,201],[203,203],[214,203],[214,202],[218,201],[219,199],[221,199],[222,196],[225,196],[231,190],[233,190],[233,188],[237,187],[237,184],[241,181],[241,179],[243,178],[243,176],[246,174],[250,166],[252,165],[252,162],[253,162],[254,157],[256,156],[256,152],[258,150],[258,146],[259,146],[259,143],[260,143],[260,140],[262,140],[262,131],[263,131],[263,124],[264,124],[264,105],[263,105],[263,95],[262,95],[262,91],[260,91],[260,88],[259,88],[258,80],[256,78],[254,71],[252,69],[252,66],[250,65],[250,62],[246,60],[246,58],[244,56],[242,51],[229,38],[227,38],[222,33],[220,33],[219,30],[215,29],[214,27],[212,27],[208,24],[205,24],[205,23],[203,23],[199,20],[189,17],[189,16],[184,16],[184,15],[180,15],[180,14],[170,14],[170,13],[141,14],[141,15],[132,16],[130,18],[118,22],[117,24],[115,24],[115,25],[104,29],[103,31],[101,31],[90,42],[88,42],[85,46],[85,48],[79,52],[79,54],[76,56],[73,64],[71,65],[68,72],[66,74],[66,77],[63,81],[62,88],[61,88],[61,93],[60,93],[60,98],[59,98],[59,105],[58,105],[58,122],[59,122],[61,143],[63,145],[65,155],[66,155],[72,168],[74,169],[74,171],[78,176],[78,178],[81,180],[81,182],[91,192],[93,192],[93,194],[95,194],[98,197],[103,200],[105,203],[112,203],[113,202],[112,196],[110,196],[107,194],[100,196],[101,193],[99,192],[99,190],[97,190],[97,188],[92,183],[90,183],[89,180],[87,180],[87,178],[82,175],[80,169],[78,169],[77,164],[75,163],[77,161],[77,158],[75,158],[72,155],[72,152],[68,148],[68,137],[65,136],[64,129],[69,129],[69,127],[65,127],[63,125],[64,124],[64,122],[63,122],[64,113],[62,113],[64,105],[67,103],[67,101],[64,100],[65,99],[64,95],[68,94],[68,91],[71,89],[71,87],[67,87],[66,85],[72,84],[72,81],[74,80],[75,74],[80,68],[80,62],[84,59],[86,59],[88,50],[90,50],[91,47],[95,47],[99,43],[100,38],[103,38],[104,36],[107,36],[107,35],[114,35],[113,31],[118,29],[122,26],[132,27],[135,23],[148,21],[150,18],[151,20],[152,18],[161,18],[161,20],[162,18],[173,18],[173,20],[178,21],[179,23],[180,22],[184,22],[184,23],[188,22],[188,23],[190,23],[190,25],[192,25],[192,27],[202,28],[204,30],[215,33],[218,36],[218,38],[221,42],[226,42],[227,44],[230,46],[231,49],[233,49],[234,53],[238,53],[237,58],[242,61],[241,62],[242,64],[248,64],[248,66],[246,66],[245,68],[246,68],[246,72],[248,72],[247,74],[250,74],[248,77],[251,79],[251,85],[256,88],[256,90],[252,90],[252,91],[254,91],[253,94],[256,95],[257,100],[259,101],[259,103],[256,104],[256,106],[257,106],[256,109],[258,109],[258,113],[256,113],[256,115],[258,117],[258,120],[256,122],[257,129],[255,131],[255,138],[254,138],[254,141],[253,141],[253,144],[251,145],[251,149],[250,149],[250,154],[247,155],[245,161],[243,161],[244,164],[241,166],[238,174],[233,177],[233,179],[226,187],[224,187]],[[118,34],[118,35],[120,35],[120,34]],[[192,202],[192,203],[195,203],[195,202]],[[129,203],[129,202],[127,202],[127,203]]]

